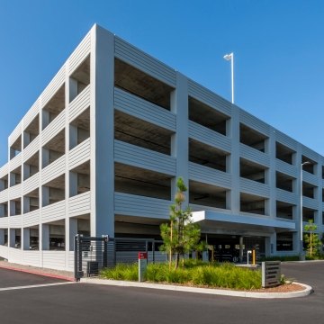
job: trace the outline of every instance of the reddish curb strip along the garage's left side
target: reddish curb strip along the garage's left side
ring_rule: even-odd
[[[24,266],[0,260],[0,268],[20,271],[33,275],[44,275],[51,278],[63,279],[67,281],[76,281],[73,272],[42,268],[38,266]]]

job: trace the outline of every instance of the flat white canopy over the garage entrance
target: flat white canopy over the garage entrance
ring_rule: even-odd
[[[295,229],[293,220],[276,220],[269,216],[236,215],[218,211],[193,211],[193,222],[201,225],[202,232],[235,234],[265,234]]]

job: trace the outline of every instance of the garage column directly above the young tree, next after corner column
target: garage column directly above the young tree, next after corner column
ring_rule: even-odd
[[[176,158],[176,176],[171,184],[171,199],[176,192],[176,178],[181,176],[188,188],[184,206],[189,203],[188,80],[176,72],[176,88],[171,94],[171,111],[176,114],[176,133],[171,139],[171,155]]]

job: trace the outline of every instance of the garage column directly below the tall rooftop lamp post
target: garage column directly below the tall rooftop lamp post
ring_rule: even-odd
[[[229,173],[231,175],[231,190],[226,194],[227,207],[233,214],[240,210],[239,195],[239,111],[238,107],[232,105],[231,119],[228,122],[229,137],[231,138],[231,152],[229,157]]]

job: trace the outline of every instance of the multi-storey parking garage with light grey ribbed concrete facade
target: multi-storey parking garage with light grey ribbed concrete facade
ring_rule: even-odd
[[[301,189],[303,220],[324,230],[324,157],[97,25],[8,157],[0,257],[16,263],[71,270],[77,233],[158,238],[178,176],[211,243],[297,255]]]

